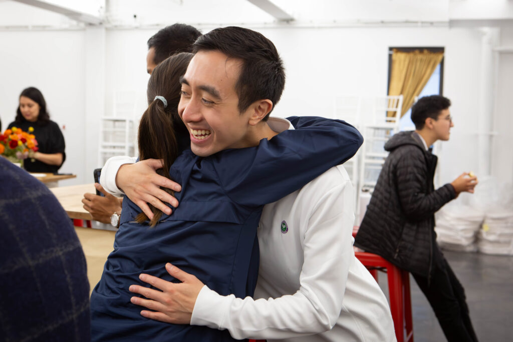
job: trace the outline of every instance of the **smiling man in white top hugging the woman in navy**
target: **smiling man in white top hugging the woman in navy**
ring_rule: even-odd
[[[207,33],[195,43],[195,56],[181,79],[179,105],[179,113],[190,131],[191,149],[195,155],[207,157],[213,153],[212,157],[222,160],[220,158],[224,154],[218,151],[223,150],[236,151],[243,156],[244,151],[249,152],[244,147],[267,144],[266,139],[259,143],[262,136],[274,135],[269,140],[272,143],[282,134],[292,132],[293,127],[284,119],[270,117],[267,120],[283,88],[283,84],[273,81],[272,77],[265,81],[262,79],[262,74],[269,69],[274,70],[278,64],[274,49],[257,48],[262,44],[268,45],[267,40],[250,30],[224,28]],[[262,118],[259,120],[253,117],[255,112],[266,115],[259,116]],[[319,120],[311,117],[290,119],[298,131],[315,129],[308,128],[307,124]],[[337,121],[327,119],[325,124],[326,128],[339,125]],[[277,132],[282,133],[275,135]],[[328,130],[315,138],[293,142],[287,153],[276,154],[265,161],[270,165],[278,163],[277,174],[261,172],[253,178],[253,189],[236,191],[235,197],[233,194],[230,197],[258,198],[262,191],[269,192],[258,186],[261,180],[272,189],[270,192],[281,191],[287,182],[279,181],[279,177],[297,177],[303,172],[287,161],[290,153],[312,147],[318,151],[318,162],[321,163],[325,153],[320,149],[325,148],[326,142],[332,143],[327,134]],[[343,139],[345,141],[339,143],[346,150],[347,144],[353,143],[347,137]],[[134,175],[128,170],[148,163],[148,160],[143,160],[121,168],[116,177],[117,185],[125,190],[130,188],[135,179],[144,178],[146,174],[143,171]],[[306,160],[300,165],[304,163]],[[237,178],[265,164],[248,163],[246,159],[239,158],[234,163],[224,163],[218,177]],[[106,175],[111,173],[105,172]],[[202,187],[206,186],[208,182],[205,179]],[[186,186],[184,189],[187,191]],[[159,198],[160,194],[154,192],[153,196]],[[184,204],[187,205],[183,197],[178,198],[180,196],[184,194],[177,195],[180,206],[174,209],[170,218],[184,210]],[[198,198],[207,200],[209,196]],[[132,198],[131,195],[128,197]],[[160,275],[156,277],[153,270],[151,273],[142,271],[151,274],[143,274],[140,279],[152,288],[139,279],[134,281],[130,291],[148,299],[134,296],[132,303],[156,311],[143,310],[141,314],[144,317],[174,324],[227,329],[237,339],[393,341],[395,337],[386,298],[369,272],[354,257],[352,198],[347,172],[338,166],[302,189],[265,206],[258,228],[261,267],[255,291],[255,298],[261,299],[254,300],[250,296],[243,299],[240,292],[232,289],[228,293],[219,291],[216,289],[219,286],[202,280],[197,271],[184,269],[197,267],[191,261],[190,265],[173,265],[193,275],[178,271],[177,267],[170,269],[169,264],[166,269],[159,270]],[[189,208],[198,212],[197,217],[208,218],[202,216],[205,213],[198,208]],[[226,208],[219,203],[212,212],[222,213],[224,210]],[[183,240],[181,243],[187,242]],[[172,262],[171,257],[166,261]],[[219,273],[216,269],[210,272],[209,277]],[[170,275],[174,278],[173,283],[166,279]],[[183,283],[174,284],[177,280]]]

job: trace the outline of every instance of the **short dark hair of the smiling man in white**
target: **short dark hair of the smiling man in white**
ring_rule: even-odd
[[[285,69],[276,47],[269,39],[259,32],[231,26],[202,35],[192,48],[193,53],[214,50],[243,61],[239,80],[235,84],[240,112],[259,99],[271,100],[274,108],[285,87]],[[268,117],[269,114],[263,120]]]

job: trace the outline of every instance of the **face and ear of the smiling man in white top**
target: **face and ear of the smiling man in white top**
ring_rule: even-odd
[[[182,77],[178,112],[191,132],[194,154],[208,156],[226,149],[255,146],[262,137],[276,135],[264,120],[252,117],[254,112],[270,113],[272,100],[247,100],[247,108],[239,103],[236,82],[241,64],[240,59],[228,58],[221,51],[199,51]],[[267,119],[268,114],[264,117]]]

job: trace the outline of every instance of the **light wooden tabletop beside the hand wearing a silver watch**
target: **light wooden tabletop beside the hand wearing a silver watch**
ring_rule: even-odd
[[[82,198],[86,192],[96,193],[94,183],[70,185],[50,189],[70,218],[92,220],[91,214],[83,208]]]

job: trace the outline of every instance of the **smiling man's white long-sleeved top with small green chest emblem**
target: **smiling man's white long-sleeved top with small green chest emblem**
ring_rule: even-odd
[[[293,129],[283,118],[267,123],[276,132]],[[119,166],[135,158],[109,161],[102,185],[110,192]],[[109,185],[103,183],[107,176]],[[396,341],[386,297],[354,256],[352,201],[349,176],[338,166],[264,206],[254,299],[221,296],[204,286],[191,324],[269,342]]]

